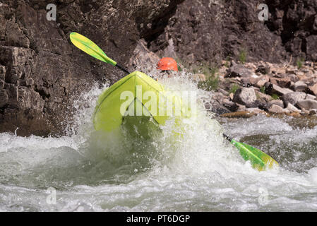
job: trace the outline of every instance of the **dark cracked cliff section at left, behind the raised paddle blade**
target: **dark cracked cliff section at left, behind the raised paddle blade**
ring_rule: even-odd
[[[3,1],[1,1],[3,2]],[[47,20],[47,4],[57,6]],[[0,6],[0,132],[47,136],[62,133],[71,103],[93,81],[124,74],[73,47],[70,32],[90,37],[126,64],[140,33],[179,1],[16,1]],[[66,122],[66,123],[65,123]]]

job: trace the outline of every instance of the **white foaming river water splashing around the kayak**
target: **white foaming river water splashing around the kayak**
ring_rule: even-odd
[[[97,133],[91,115],[103,88],[74,104],[67,136],[0,133],[1,211],[316,211],[317,119],[215,118],[208,93],[184,76],[161,81],[197,93],[198,114],[173,138],[168,121],[148,139]],[[217,123],[220,122],[220,124]],[[271,155],[258,172],[222,131]]]

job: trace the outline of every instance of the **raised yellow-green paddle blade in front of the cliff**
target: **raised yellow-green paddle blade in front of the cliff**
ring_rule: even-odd
[[[89,40],[87,37],[80,35],[76,32],[71,32],[71,42],[78,48],[83,50],[83,52],[90,54],[90,56],[100,59],[100,61],[104,61],[105,63],[112,64],[116,66],[116,61],[107,57],[107,55],[97,46],[94,42]]]

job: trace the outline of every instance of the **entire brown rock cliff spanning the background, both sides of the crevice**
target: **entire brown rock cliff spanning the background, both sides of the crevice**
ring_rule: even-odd
[[[0,0],[0,132],[61,134],[78,94],[124,76],[73,47],[73,31],[131,69],[146,56],[154,64],[152,52],[186,64],[241,52],[248,61],[316,61],[316,1],[265,3],[262,22],[255,0]],[[47,20],[47,4],[57,6],[56,21]]]

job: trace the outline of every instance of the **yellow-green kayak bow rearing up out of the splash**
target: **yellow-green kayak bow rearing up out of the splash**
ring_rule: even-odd
[[[170,117],[188,117],[181,98],[140,71],[134,71],[104,91],[93,114],[96,131],[112,131],[126,119],[165,124]]]

